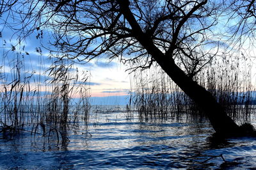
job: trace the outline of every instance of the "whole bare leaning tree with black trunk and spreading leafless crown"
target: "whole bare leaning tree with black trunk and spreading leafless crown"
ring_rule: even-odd
[[[22,35],[36,30],[40,38],[40,31],[47,29],[54,36],[56,52],[77,61],[107,56],[131,62],[131,69],[157,63],[200,106],[216,132],[243,133],[211,93],[193,79],[218,52],[212,36],[216,36],[213,29],[222,12],[220,4],[207,0],[34,0],[17,1],[15,6],[26,9],[12,9],[26,23],[19,32]]]

